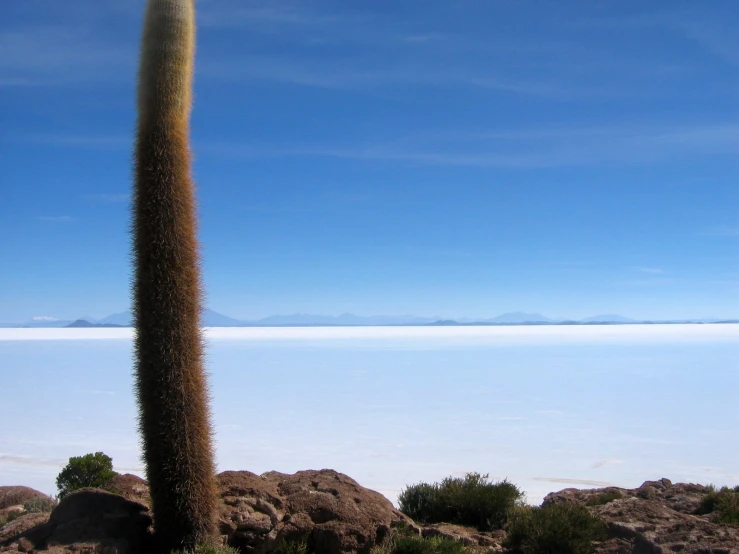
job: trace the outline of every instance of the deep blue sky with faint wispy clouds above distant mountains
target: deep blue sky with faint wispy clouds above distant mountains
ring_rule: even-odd
[[[0,322],[129,304],[143,2],[0,21]],[[200,0],[208,305],[739,316],[732,2]]]

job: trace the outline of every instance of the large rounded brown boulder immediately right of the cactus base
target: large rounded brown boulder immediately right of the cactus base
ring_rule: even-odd
[[[242,552],[267,554],[281,541],[305,538],[322,554],[367,553],[393,527],[414,525],[380,493],[330,469],[227,471],[218,483],[220,530]]]

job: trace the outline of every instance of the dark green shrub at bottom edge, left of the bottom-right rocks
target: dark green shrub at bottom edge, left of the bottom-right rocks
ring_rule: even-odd
[[[521,506],[511,511],[503,546],[512,554],[591,554],[608,538],[605,524],[580,504]]]

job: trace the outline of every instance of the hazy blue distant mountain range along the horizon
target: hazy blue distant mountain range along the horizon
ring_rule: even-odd
[[[413,315],[375,315],[359,316],[341,314],[339,316],[292,314],[272,315],[253,321],[242,321],[220,314],[210,309],[203,311],[205,327],[320,327],[320,326],[378,326],[378,325],[626,325],[634,323],[739,323],[739,319],[686,319],[686,320],[634,320],[617,314],[600,314],[580,320],[549,318],[541,314],[509,312],[493,318],[419,317]],[[0,324],[0,327],[61,328],[61,327],[130,327],[131,312],[109,315],[103,319],[83,316],[74,321],[38,317],[21,324]]]

